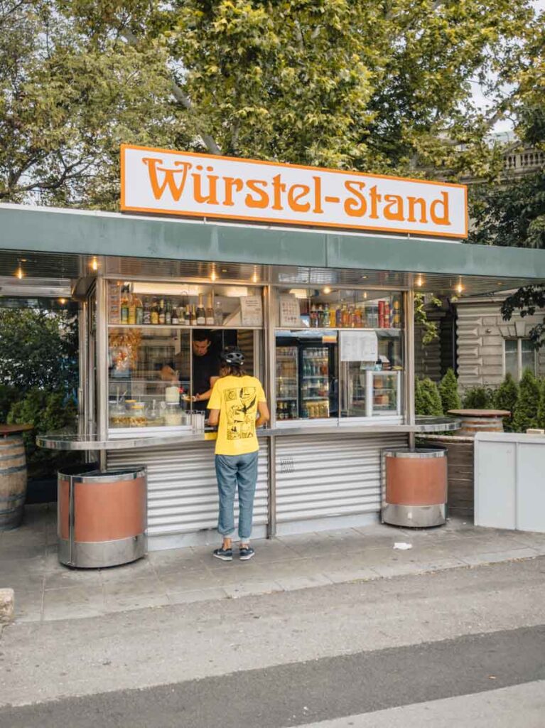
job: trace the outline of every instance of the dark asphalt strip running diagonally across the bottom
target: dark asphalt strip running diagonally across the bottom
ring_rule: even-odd
[[[4,708],[0,727],[287,728],[525,684],[545,702],[538,681],[545,681],[545,625]],[[523,711],[524,703],[522,719]],[[453,716],[451,725],[460,724]]]

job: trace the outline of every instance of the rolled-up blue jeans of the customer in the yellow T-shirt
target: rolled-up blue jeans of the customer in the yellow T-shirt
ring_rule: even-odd
[[[220,494],[218,531],[224,537],[234,532],[234,496],[239,489],[239,537],[252,534],[253,496],[258,480],[258,451],[245,455],[216,455],[215,472]]]

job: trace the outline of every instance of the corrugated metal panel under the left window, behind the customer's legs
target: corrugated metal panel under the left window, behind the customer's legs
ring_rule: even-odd
[[[148,534],[187,533],[215,529],[218,486],[212,443],[178,449],[168,446],[108,453],[108,466],[148,466]],[[254,523],[267,522],[267,448],[261,443]]]

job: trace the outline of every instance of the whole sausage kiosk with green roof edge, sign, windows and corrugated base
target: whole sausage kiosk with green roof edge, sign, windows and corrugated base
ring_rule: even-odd
[[[415,292],[545,278],[541,251],[461,245],[464,186],[137,147],[122,175],[121,213],[0,206],[0,262],[71,279],[79,431],[39,444],[146,467],[150,549],[216,537],[198,332],[239,346],[271,404],[253,536],[363,526],[383,451],[458,426],[415,418]]]

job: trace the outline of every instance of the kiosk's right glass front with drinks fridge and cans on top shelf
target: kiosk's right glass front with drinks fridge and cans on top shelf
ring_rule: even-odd
[[[278,291],[277,421],[402,416],[402,294]]]

